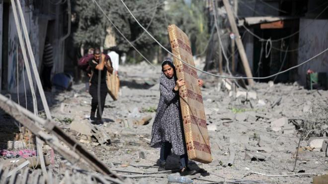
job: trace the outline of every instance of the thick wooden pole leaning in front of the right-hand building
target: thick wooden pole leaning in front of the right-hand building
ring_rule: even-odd
[[[231,10],[231,5],[230,5],[228,0],[223,0],[223,4],[224,4],[224,6],[227,10],[227,15],[228,15],[228,19],[229,19],[229,22],[230,22],[231,29],[232,29],[233,33],[235,34],[235,37],[236,37],[235,39],[236,39],[237,48],[238,48],[238,51],[239,51],[239,55],[241,56],[241,59],[243,61],[246,76],[247,77],[252,77],[252,73],[251,73],[250,68],[249,68],[249,64],[248,64],[248,60],[247,60],[247,57],[246,57],[244,45],[243,45],[242,39],[240,37],[236,22],[235,22],[235,16],[234,16],[234,14]],[[247,79],[247,81],[248,81],[249,86],[254,85],[253,79]]]

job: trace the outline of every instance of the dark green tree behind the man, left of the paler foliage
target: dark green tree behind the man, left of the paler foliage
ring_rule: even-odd
[[[120,0],[97,0],[97,2],[128,40],[134,41],[141,36],[133,43],[138,50],[147,51],[154,48],[155,41],[147,34],[143,34],[144,30],[137,24]],[[155,38],[164,40],[162,37],[166,37],[166,29],[161,29],[164,25],[163,2],[158,0],[125,0],[124,2],[144,27],[147,27],[153,19],[148,31]],[[87,47],[99,46],[101,42],[104,42],[107,34],[106,29],[112,25],[91,0],[77,0],[75,7],[79,16],[79,27],[74,34],[75,43],[77,45],[84,44]],[[112,30],[116,34],[118,50],[123,52],[133,50],[114,27]]]

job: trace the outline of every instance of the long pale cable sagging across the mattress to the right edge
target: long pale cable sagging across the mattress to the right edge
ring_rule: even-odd
[[[95,0],[94,0],[95,1]],[[301,66],[301,65],[303,65],[303,64],[305,64],[305,63],[307,63],[307,62],[309,62],[309,61],[311,61],[311,60],[313,60],[313,59],[315,59],[315,58],[317,58],[318,56],[320,56],[320,55],[322,55],[322,54],[324,54],[325,52],[327,52],[328,51],[328,48],[327,49],[325,49],[324,51],[322,51],[321,53],[319,53],[319,54],[317,54],[316,56],[314,56],[314,57],[312,57],[312,58],[310,58],[309,60],[307,60],[307,61],[304,61],[304,62],[302,62],[302,63],[300,63],[300,64],[298,64],[298,65],[296,65],[296,66],[293,66],[293,67],[290,67],[290,68],[288,68],[288,69],[286,69],[286,70],[283,70],[283,71],[281,71],[281,72],[278,72],[278,73],[276,73],[276,74],[273,74],[273,75],[269,75],[269,76],[266,76],[266,77],[231,77],[231,76],[222,76],[222,75],[217,75],[217,74],[214,74],[214,73],[210,73],[210,72],[207,72],[207,71],[204,71],[204,70],[201,70],[201,69],[198,69],[198,68],[196,68],[195,66],[193,66],[193,65],[191,65],[191,64],[189,64],[189,63],[187,63],[187,62],[185,62],[185,61],[183,61],[183,60],[181,60],[181,59],[179,59],[177,56],[175,56],[173,53],[171,53],[170,51],[168,51],[158,40],[156,40],[141,24],[140,24],[140,22],[136,19],[136,17],[133,15],[133,13],[130,11],[130,9],[126,6],[126,4],[124,3],[124,1],[123,0],[121,0],[121,2],[124,4],[124,6],[126,7],[126,9],[129,11],[129,13],[131,14],[131,16],[136,20],[136,22],[139,24],[139,26],[141,27],[141,28],[143,28],[144,30],[145,30],[145,32],[156,42],[156,43],[158,43],[167,53],[169,53],[170,55],[172,55],[172,56],[174,56],[175,58],[177,58],[178,60],[180,60],[180,61],[182,61],[183,63],[185,63],[186,65],[188,65],[188,66],[190,66],[190,67],[192,67],[192,68],[194,68],[194,69],[196,69],[196,70],[198,70],[198,71],[201,71],[201,72],[203,72],[203,73],[206,73],[206,74],[209,74],[209,75],[212,75],[212,76],[216,76],[216,77],[221,77],[221,78],[231,78],[231,79],[267,79],[267,78],[271,78],[271,77],[273,77],[273,76],[276,76],[276,75],[279,75],[279,74],[281,74],[281,73],[284,73],[284,72],[287,72],[287,71],[289,71],[289,70],[292,70],[292,69],[294,69],[294,68],[297,68],[297,67],[299,67],[299,66]],[[99,5],[98,5],[98,7],[100,8],[100,9],[102,9]],[[327,6],[328,7],[328,6]],[[104,11],[102,10],[102,12],[104,13]]]

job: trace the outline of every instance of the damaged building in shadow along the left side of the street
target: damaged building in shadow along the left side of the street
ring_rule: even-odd
[[[46,37],[53,46],[52,75],[63,72],[64,38],[68,34],[68,1],[21,0],[21,5],[39,73]],[[26,70],[10,0],[0,0],[0,72],[1,93],[17,93],[17,85],[19,93],[24,91],[22,76],[26,76]],[[29,89],[28,85],[26,87]]]

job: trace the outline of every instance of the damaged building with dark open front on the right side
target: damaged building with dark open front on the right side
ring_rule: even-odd
[[[288,69],[328,47],[326,0],[233,0],[231,2],[254,77],[265,77]],[[209,14],[213,16],[212,6],[208,3]],[[235,71],[244,73],[237,47],[231,42],[234,35],[231,34],[222,1],[217,2],[217,7],[223,45],[225,52],[230,56],[230,69],[233,73]],[[213,21],[211,17],[210,22]],[[213,23],[210,25],[214,26]],[[221,60],[225,65],[226,61],[222,53],[218,53],[217,50],[220,50],[218,46],[208,49],[207,61],[215,58],[215,61]],[[313,72],[324,72],[319,78],[323,81],[323,87],[327,89],[327,74],[325,74],[328,71],[327,53],[297,69],[257,81],[267,82],[273,79],[275,82],[297,81],[305,86],[309,69]]]

